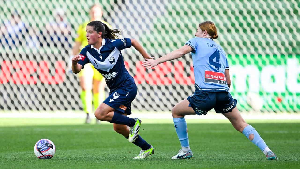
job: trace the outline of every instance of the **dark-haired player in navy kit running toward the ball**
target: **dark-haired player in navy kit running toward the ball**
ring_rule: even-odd
[[[88,23],[88,45],[72,58],[72,70],[76,74],[85,64],[91,63],[103,75],[110,95],[96,109],[96,118],[113,123],[116,132],[142,149],[134,159],[146,158],[154,153],[154,149],[139,135],[141,120],[127,117],[131,114],[131,103],[137,95],[137,85],[125,69],[121,50],[133,46],[144,58],[151,57],[135,39],[118,39],[117,34],[121,35],[121,31],[110,29],[98,20]]]

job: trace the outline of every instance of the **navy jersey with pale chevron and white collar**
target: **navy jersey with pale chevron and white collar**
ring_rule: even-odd
[[[130,48],[131,40],[125,39],[103,39],[100,49],[96,49],[93,45],[87,45],[80,52],[79,64],[84,68],[87,63],[93,66],[103,75],[106,80],[107,87],[110,91],[116,88],[134,83],[134,78],[129,75],[125,69],[122,49]]]

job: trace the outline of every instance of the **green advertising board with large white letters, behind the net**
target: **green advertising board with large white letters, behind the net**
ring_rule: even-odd
[[[267,112],[300,110],[300,55],[228,56],[239,109]]]

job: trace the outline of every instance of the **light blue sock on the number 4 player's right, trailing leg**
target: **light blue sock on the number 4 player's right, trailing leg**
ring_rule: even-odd
[[[248,125],[244,128],[243,134],[249,139],[250,134],[254,135],[253,140],[250,140],[252,143],[254,143],[260,150],[264,150],[266,147],[268,147],[265,144],[265,141],[262,140],[262,138],[259,136],[255,128],[253,128],[251,125]]]

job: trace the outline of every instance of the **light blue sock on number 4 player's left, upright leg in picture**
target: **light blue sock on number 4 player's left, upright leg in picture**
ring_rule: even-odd
[[[189,147],[187,135],[187,123],[184,117],[173,118],[174,127],[182,147]]]

